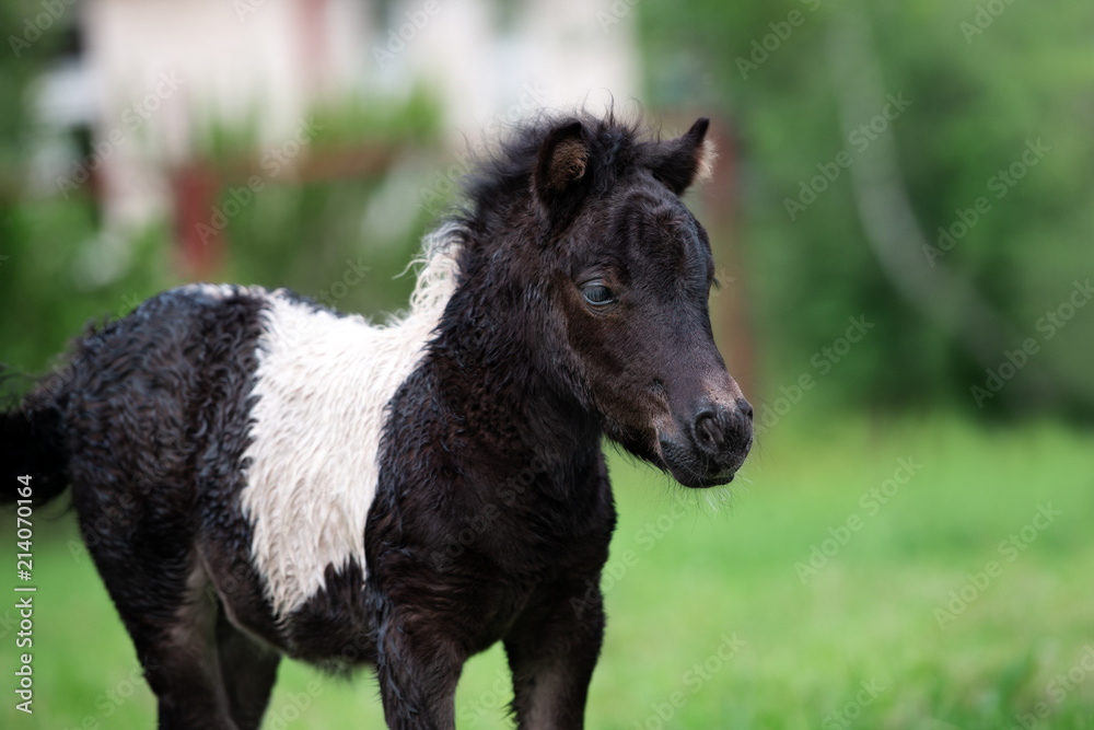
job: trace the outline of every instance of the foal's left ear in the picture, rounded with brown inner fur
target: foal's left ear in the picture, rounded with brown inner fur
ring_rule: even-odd
[[[584,192],[589,147],[580,121],[556,127],[547,135],[536,155],[532,196],[539,215],[550,228],[565,224]]]

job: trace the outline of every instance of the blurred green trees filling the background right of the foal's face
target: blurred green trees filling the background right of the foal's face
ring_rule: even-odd
[[[996,14],[978,19],[986,5]],[[828,61],[840,13],[865,16],[885,92],[911,102],[883,134],[896,143],[927,240],[938,246],[939,229],[961,221],[958,211],[980,197],[990,202],[990,211],[935,263],[970,282],[1010,323],[1016,338],[1005,347],[1040,338],[1038,318],[1067,300],[1074,280],[1094,274],[1089,2],[1049,9],[1001,0],[683,0],[638,9],[654,104],[713,107],[735,126],[742,275],[765,370],[775,375],[769,392],[801,372],[816,374],[811,356],[842,334],[848,316],[860,314],[876,326],[827,375],[824,390],[833,399],[860,406],[956,402],[975,410],[969,389],[987,378],[961,343],[897,293],[863,232],[849,171],[795,220],[788,215],[785,199],[799,196],[802,182],[818,174],[817,164],[845,149],[856,152],[839,118]],[[792,13],[795,25],[788,20]],[[875,101],[880,112],[884,99]],[[854,127],[870,119],[847,121]],[[1036,140],[1050,151],[997,198],[989,181]],[[926,254],[921,264],[930,266]],[[1086,308],[1055,341],[1043,341],[1031,363],[1031,371],[1047,372],[1057,386],[1052,394],[1009,398],[1027,391],[1008,385],[986,407],[1091,415],[1092,341],[1094,308]],[[1004,361],[1002,351],[998,360]]]

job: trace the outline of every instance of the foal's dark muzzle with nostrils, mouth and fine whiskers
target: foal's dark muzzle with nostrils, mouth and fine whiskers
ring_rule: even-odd
[[[745,461],[753,440],[753,408],[744,398],[733,405],[701,402],[675,438],[662,434],[661,452],[685,487],[729,484]]]

